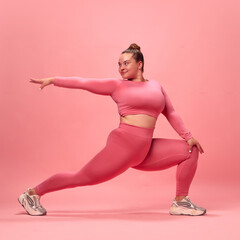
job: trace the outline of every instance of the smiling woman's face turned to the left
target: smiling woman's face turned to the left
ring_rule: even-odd
[[[138,71],[141,69],[141,61],[137,63],[132,55],[132,53],[123,53],[120,55],[118,71],[123,79],[136,78]]]

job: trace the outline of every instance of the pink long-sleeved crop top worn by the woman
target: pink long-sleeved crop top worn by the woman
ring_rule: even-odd
[[[118,78],[83,78],[55,76],[54,86],[78,88],[89,92],[109,95],[117,103],[120,116],[147,114],[158,118],[162,113],[175,131],[184,139],[192,138],[161,84],[154,79],[146,82]]]

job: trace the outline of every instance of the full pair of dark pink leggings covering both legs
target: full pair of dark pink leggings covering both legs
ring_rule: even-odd
[[[105,147],[76,172],[57,173],[35,186],[42,196],[66,188],[94,185],[110,180],[128,168],[158,171],[175,165],[176,195],[187,196],[195,175],[198,149],[189,152],[184,140],[152,138],[154,128],[124,122],[108,135]]]

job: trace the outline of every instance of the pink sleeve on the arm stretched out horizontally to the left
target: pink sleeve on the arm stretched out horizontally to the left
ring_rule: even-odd
[[[54,76],[54,86],[65,88],[78,88],[101,95],[111,95],[120,84],[117,78],[83,78],[83,77],[60,77]]]

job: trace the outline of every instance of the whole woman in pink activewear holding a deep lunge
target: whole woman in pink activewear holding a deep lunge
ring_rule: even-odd
[[[171,215],[203,215],[188,197],[195,175],[199,152],[203,149],[193,138],[161,84],[143,77],[144,58],[140,47],[133,43],[119,58],[118,78],[52,77],[31,79],[41,84],[40,90],[53,84],[58,87],[78,88],[95,94],[109,95],[117,103],[120,123],[108,135],[105,147],[76,172],[56,173],[33,188],[28,188],[18,201],[28,214],[46,215],[40,197],[46,193],[79,186],[99,184],[134,168],[158,171],[177,165],[176,197]],[[152,138],[155,123],[162,113],[183,138]]]

